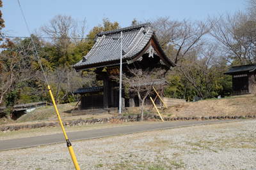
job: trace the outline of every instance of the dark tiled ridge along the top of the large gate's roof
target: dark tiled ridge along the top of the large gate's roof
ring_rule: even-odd
[[[147,22],[145,24],[134,25],[131,27],[124,27],[122,29],[115,29],[113,31],[100,32],[99,34],[97,34],[97,37],[103,36],[103,35],[109,36],[109,35],[113,35],[113,34],[119,34],[121,31],[123,31],[123,32],[134,31],[134,30],[141,29],[141,27],[148,27],[150,25],[151,25],[150,22]]]

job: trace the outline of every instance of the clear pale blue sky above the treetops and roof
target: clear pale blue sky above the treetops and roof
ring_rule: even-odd
[[[86,17],[88,30],[102,23],[102,18],[117,21],[121,27],[157,17],[175,20],[204,20],[207,16],[234,13],[246,8],[246,0],[20,0],[31,31],[47,24],[55,15],[70,15],[77,20]],[[3,0],[3,17],[11,36],[28,36],[17,0]]]

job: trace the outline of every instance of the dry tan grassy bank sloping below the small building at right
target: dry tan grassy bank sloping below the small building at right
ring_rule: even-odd
[[[171,106],[161,111],[164,116],[172,117],[209,117],[255,115],[256,97],[253,95],[233,96],[223,99],[207,99]]]

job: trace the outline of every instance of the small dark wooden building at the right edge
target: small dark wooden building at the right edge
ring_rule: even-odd
[[[226,73],[232,75],[233,95],[251,94],[256,90],[256,64],[234,66]]]

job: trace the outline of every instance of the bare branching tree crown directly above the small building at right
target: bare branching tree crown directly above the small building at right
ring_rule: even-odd
[[[232,63],[252,64],[256,62],[256,22],[248,15],[235,15],[210,19],[211,35],[220,43],[223,55]],[[235,63],[236,64],[236,63]]]

